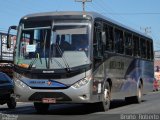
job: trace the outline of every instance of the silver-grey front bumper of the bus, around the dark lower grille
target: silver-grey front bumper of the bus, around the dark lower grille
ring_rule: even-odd
[[[67,89],[32,89],[23,83],[15,84],[14,97],[17,102],[43,102],[43,99],[55,99],[56,103],[92,103],[91,81],[75,88]]]

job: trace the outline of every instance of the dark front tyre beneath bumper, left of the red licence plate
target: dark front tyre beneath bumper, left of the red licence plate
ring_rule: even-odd
[[[34,102],[34,107],[37,113],[45,114],[48,112],[49,104]]]

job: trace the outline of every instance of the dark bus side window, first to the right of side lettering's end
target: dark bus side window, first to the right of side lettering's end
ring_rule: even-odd
[[[133,54],[132,35],[129,33],[125,33],[125,53],[130,56]]]

